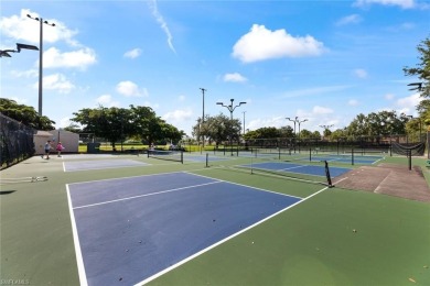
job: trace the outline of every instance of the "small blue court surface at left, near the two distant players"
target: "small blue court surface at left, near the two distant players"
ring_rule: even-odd
[[[75,161],[75,162],[64,162],[63,165],[64,165],[64,172],[149,166],[149,164],[147,163],[142,163],[133,160]]]

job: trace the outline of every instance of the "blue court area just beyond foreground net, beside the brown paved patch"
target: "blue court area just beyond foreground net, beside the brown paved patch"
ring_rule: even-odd
[[[292,163],[284,163],[284,162],[256,163],[256,164],[240,165],[240,167],[247,167],[247,168],[252,167],[252,168],[269,169],[269,170],[277,170],[277,172],[325,176],[324,166],[300,165],[300,164],[292,164]],[[351,168],[342,168],[342,167],[329,167],[329,169],[330,169],[331,177],[337,177],[351,170]]]

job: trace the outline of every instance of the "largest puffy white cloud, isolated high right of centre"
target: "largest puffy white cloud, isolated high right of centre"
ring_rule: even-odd
[[[233,56],[244,63],[252,63],[280,57],[319,56],[323,51],[323,43],[313,36],[293,37],[283,29],[270,31],[254,24],[249,33],[234,45]]]

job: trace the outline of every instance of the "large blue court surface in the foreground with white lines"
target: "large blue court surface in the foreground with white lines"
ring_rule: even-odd
[[[67,185],[82,284],[133,285],[300,198],[187,173]]]

